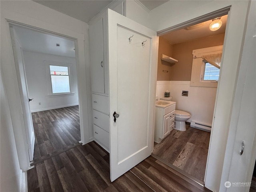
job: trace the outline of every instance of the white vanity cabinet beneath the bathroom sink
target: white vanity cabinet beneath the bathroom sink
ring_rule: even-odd
[[[176,102],[166,108],[156,106],[154,141],[159,143],[174,129]]]

